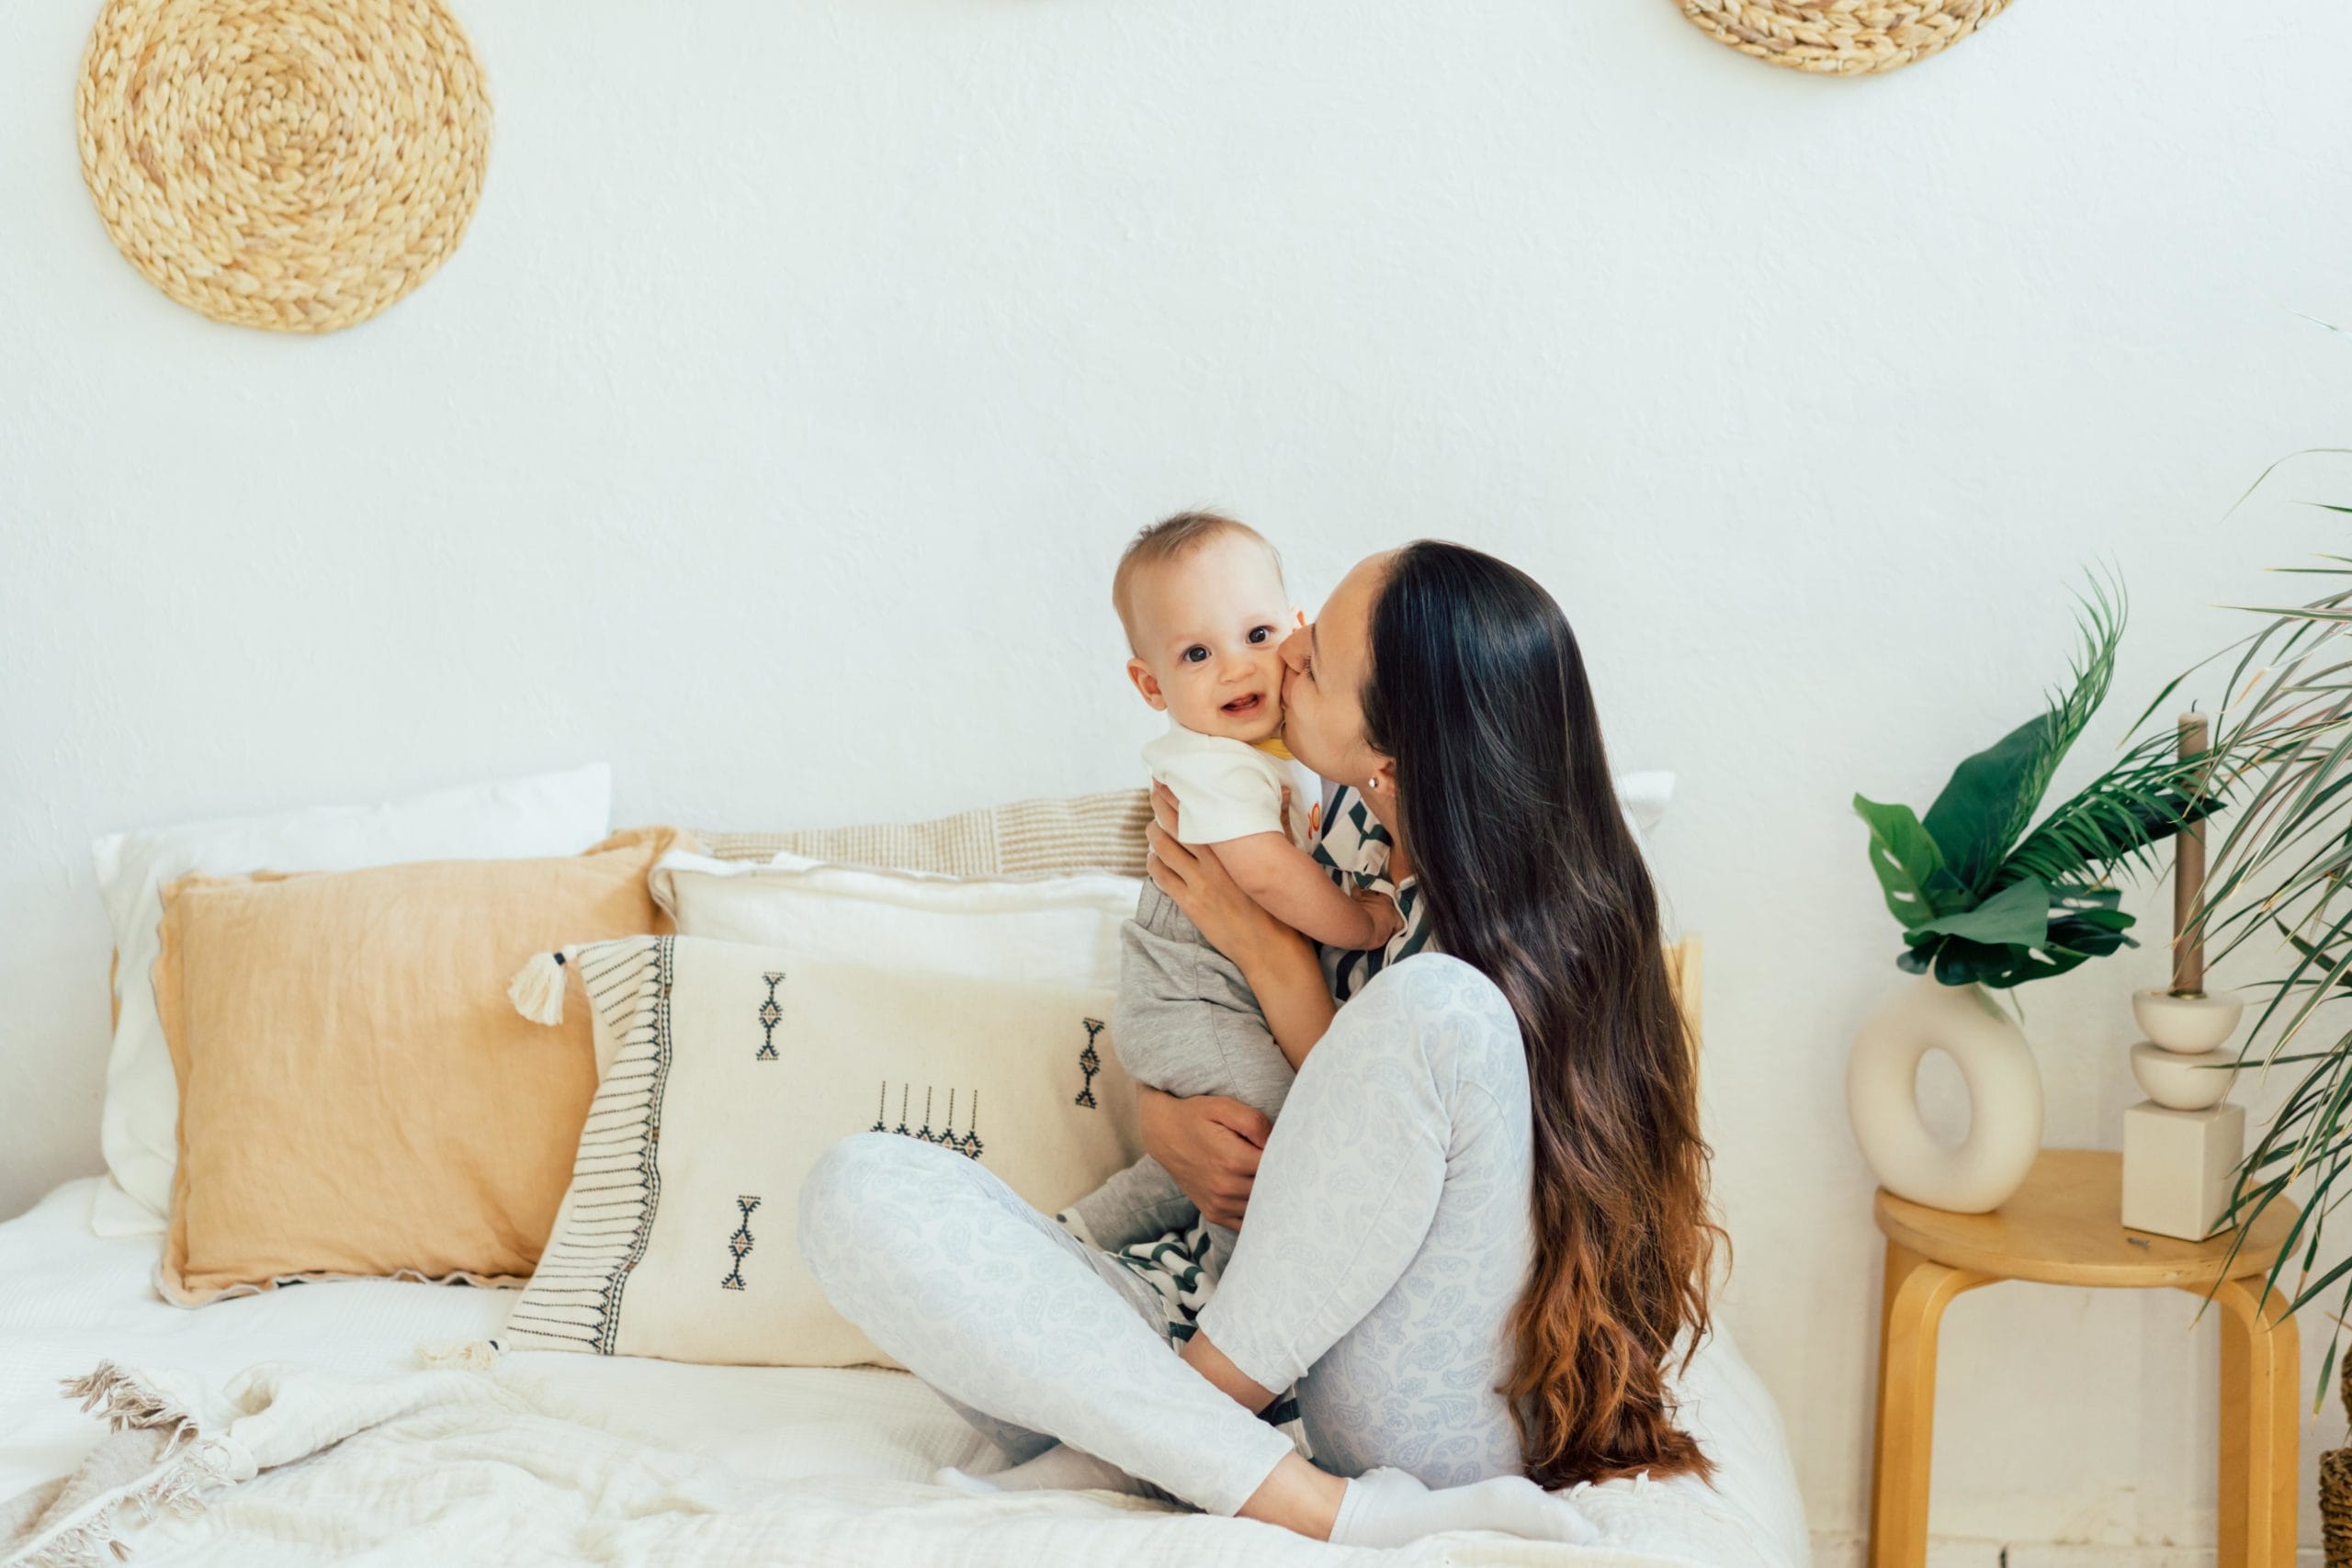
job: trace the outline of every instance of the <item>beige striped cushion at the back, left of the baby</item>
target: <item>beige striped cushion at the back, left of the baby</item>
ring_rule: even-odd
[[[1070,799],[1018,799],[957,811],[929,823],[873,823],[802,832],[699,832],[722,860],[769,860],[776,851],[844,865],[880,865],[948,877],[1143,875],[1148,790],[1105,790]]]

